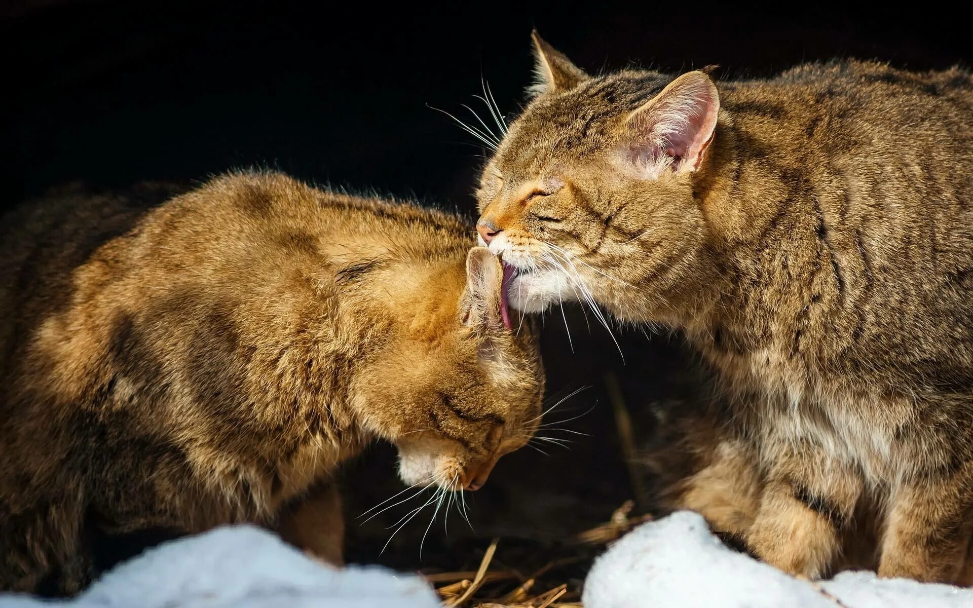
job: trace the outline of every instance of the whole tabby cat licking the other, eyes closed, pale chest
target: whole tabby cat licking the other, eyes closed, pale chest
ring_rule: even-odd
[[[671,506],[823,576],[959,581],[973,529],[973,79],[875,62],[714,82],[537,83],[486,162],[514,307],[587,300],[685,334],[725,409]]]

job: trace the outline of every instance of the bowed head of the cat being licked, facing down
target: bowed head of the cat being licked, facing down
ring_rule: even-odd
[[[409,484],[478,489],[540,425],[544,370],[534,322],[509,311],[503,269],[484,247],[434,272],[368,382],[365,414],[399,449]]]

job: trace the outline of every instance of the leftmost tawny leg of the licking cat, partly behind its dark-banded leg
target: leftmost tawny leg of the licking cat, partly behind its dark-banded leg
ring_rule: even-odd
[[[724,439],[714,447],[708,464],[678,484],[669,504],[674,509],[696,511],[724,540],[745,545],[757,516],[761,486],[752,448],[739,440]]]

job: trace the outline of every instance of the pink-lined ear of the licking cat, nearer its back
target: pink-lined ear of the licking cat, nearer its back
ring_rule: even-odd
[[[683,74],[626,119],[626,160],[643,179],[667,169],[695,171],[713,140],[719,109],[719,93],[708,75]]]

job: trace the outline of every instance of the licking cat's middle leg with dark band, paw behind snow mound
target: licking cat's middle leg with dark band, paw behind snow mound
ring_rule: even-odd
[[[841,553],[863,490],[850,467],[806,445],[775,458],[747,546],[790,574],[820,578]]]

